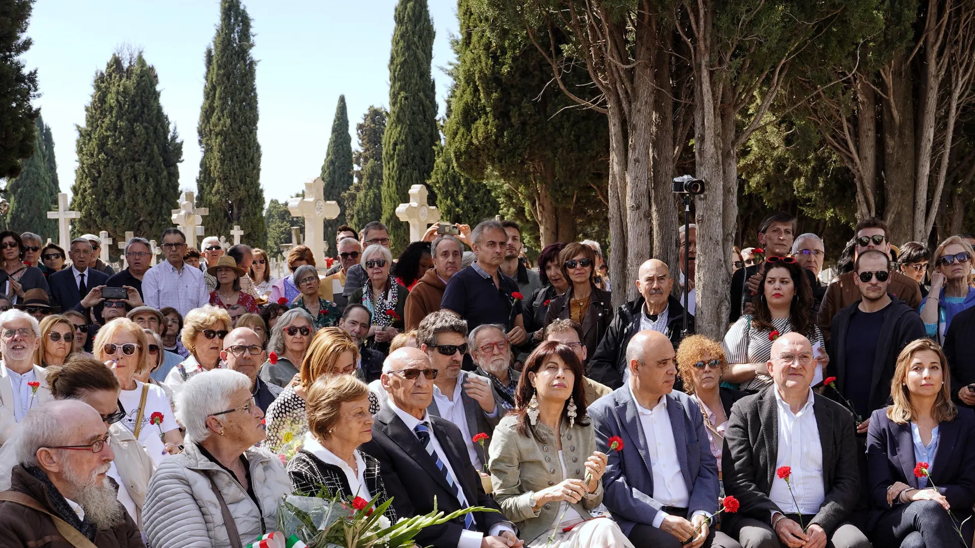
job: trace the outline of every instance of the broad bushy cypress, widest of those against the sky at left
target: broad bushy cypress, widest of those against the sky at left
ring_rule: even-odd
[[[95,76],[85,126],[78,128],[78,168],[71,208],[74,234],[131,230],[157,238],[173,226],[182,141],[159,102],[159,78],[142,54],[113,54]]]

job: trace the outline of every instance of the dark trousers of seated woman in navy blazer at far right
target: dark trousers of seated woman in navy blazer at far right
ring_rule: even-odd
[[[954,547],[961,541],[955,526],[956,524],[952,523],[952,518],[941,504],[933,500],[916,500],[909,504],[902,504],[884,514],[874,528],[874,538],[878,546]],[[961,531],[965,543],[970,542],[971,520],[968,520]]]

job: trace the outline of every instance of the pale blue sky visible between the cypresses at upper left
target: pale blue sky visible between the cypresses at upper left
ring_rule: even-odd
[[[339,95],[349,133],[370,105],[389,105],[389,51],[394,0],[245,1],[254,30],[265,201],[285,200],[321,174]],[[439,116],[445,111],[458,32],[456,2],[429,0],[436,30],[432,75]],[[76,126],[85,124],[97,70],[114,51],[141,50],[156,68],[163,110],[183,141],[180,190],[196,190],[201,150],[196,126],[203,102],[203,59],[219,20],[218,0],[36,0],[24,54],[37,69],[44,122],[54,133],[61,192],[71,193],[78,166]],[[404,197],[406,198],[406,197]]]

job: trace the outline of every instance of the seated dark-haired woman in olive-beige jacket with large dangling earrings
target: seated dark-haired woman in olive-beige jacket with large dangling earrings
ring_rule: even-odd
[[[590,513],[603,501],[606,455],[596,450],[582,377],[570,346],[543,342],[526,360],[516,411],[494,428],[494,500],[529,548],[633,547],[615,522]]]

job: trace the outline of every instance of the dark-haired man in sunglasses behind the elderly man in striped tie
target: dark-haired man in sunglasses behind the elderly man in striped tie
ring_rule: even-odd
[[[460,428],[471,463],[484,470],[489,436],[501,417],[487,378],[460,371],[467,353],[467,322],[450,310],[431,312],[416,329],[416,344],[437,370],[433,401],[427,412],[446,418]],[[488,436],[484,448],[473,441],[482,432]]]

